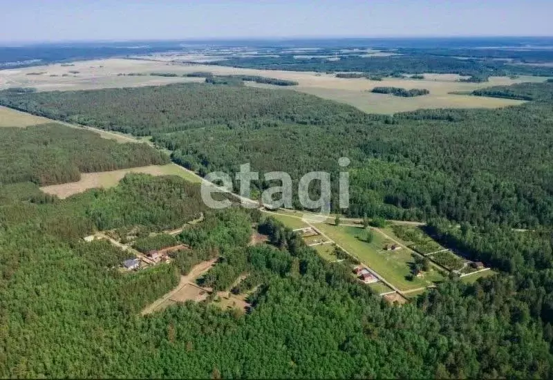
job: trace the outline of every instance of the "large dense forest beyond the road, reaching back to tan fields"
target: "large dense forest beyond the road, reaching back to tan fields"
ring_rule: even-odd
[[[549,83],[533,86],[542,94],[551,91]],[[286,171],[294,182],[314,170],[336,178],[337,159],[346,155],[352,161],[350,216],[553,224],[553,119],[547,101],[384,116],[292,91],[176,84],[4,94],[0,102],[151,134],[173,151],[175,162],[202,175],[234,173],[250,162],[261,173]],[[254,183],[254,193],[267,186]],[[337,202],[332,205],[336,211]]]

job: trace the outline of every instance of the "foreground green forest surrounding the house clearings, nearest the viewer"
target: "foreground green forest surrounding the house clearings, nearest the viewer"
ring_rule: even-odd
[[[220,256],[205,285],[228,289],[249,274],[233,292],[252,292],[252,309],[222,310],[208,298],[140,316],[189,265],[123,274],[113,268],[122,251],[81,238],[180,225],[202,207],[197,185],[127,175],[113,189],[41,204],[19,197],[19,185],[1,189],[2,377],[553,376],[551,329],[523,294],[512,296],[509,276],[450,281],[395,307],[280,222],[206,211],[178,239],[192,259]],[[247,247],[256,221],[272,245]]]

